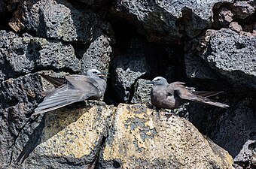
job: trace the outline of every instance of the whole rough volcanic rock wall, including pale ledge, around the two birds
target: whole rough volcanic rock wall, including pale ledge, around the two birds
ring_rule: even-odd
[[[256,167],[255,9],[253,0],[0,1],[0,168],[231,168],[232,158]],[[89,68],[111,73],[108,105],[30,118],[52,87],[38,73]],[[168,119],[149,109],[145,83],[157,76],[224,90],[213,99],[230,107],[188,104]]]

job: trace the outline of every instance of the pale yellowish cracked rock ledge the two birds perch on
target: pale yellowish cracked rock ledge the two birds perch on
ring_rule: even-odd
[[[163,113],[101,102],[46,113],[32,133],[29,124],[20,132],[9,167],[232,167],[228,152],[194,125]]]

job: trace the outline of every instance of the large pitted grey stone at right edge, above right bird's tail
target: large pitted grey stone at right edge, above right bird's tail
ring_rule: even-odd
[[[241,31],[242,28],[237,29]],[[218,79],[221,76],[234,86],[255,88],[255,47],[256,38],[251,34],[239,35],[230,29],[208,30],[187,44],[184,56],[187,77]]]

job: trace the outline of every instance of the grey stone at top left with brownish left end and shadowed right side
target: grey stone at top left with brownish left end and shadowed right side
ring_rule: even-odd
[[[15,31],[29,29],[39,37],[83,42],[92,40],[97,24],[93,11],[74,8],[64,0],[23,2],[9,23]]]

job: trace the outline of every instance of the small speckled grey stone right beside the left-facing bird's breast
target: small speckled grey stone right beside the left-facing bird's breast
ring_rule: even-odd
[[[149,81],[145,79],[137,80],[131,103],[151,104],[151,85],[146,84]]]

